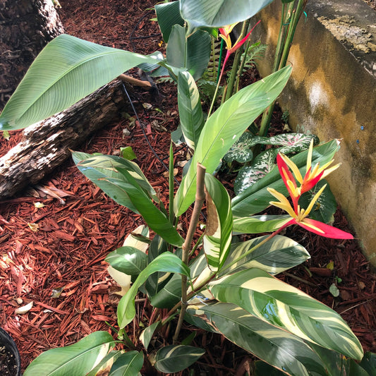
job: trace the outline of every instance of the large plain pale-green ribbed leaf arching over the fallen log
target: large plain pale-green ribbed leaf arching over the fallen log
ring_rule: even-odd
[[[4,107],[0,130],[37,123],[67,109],[128,69],[162,59],[162,54],[142,56],[59,35],[40,52]]]

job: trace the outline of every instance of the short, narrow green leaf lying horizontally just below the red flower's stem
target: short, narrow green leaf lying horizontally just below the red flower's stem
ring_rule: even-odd
[[[261,234],[273,232],[289,221],[289,215],[254,215],[234,219],[234,234]]]

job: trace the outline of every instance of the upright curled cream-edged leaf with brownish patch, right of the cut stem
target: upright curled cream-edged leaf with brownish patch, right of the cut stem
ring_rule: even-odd
[[[226,188],[211,174],[205,174],[207,222],[202,245],[207,264],[217,272],[230,250],[232,238],[231,199]]]

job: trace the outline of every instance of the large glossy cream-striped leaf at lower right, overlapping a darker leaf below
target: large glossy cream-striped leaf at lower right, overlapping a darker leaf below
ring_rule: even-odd
[[[261,269],[246,269],[209,284],[217,300],[345,356],[360,360],[363,349],[334,310]]]

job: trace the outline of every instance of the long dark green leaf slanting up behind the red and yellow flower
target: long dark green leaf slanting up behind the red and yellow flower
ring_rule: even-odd
[[[337,150],[339,150],[338,140],[332,140],[314,147],[312,156],[313,166],[317,162],[320,162],[320,165],[323,166],[333,159]],[[303,176],[305,175],[307,155],[308,151],[305,150],[291,157],[291,160],[298,166]],[[247,188],[240,195],[233,198],[232,214],[234,217],[248,217],[268,207],[269,201],[273,200],[273,196],[267,192],[267,187],[272,187],[284,195],[289,194],[278,169],[273,169],[269,174],[253,184],[253,186],[250,186],[250,188]]]

